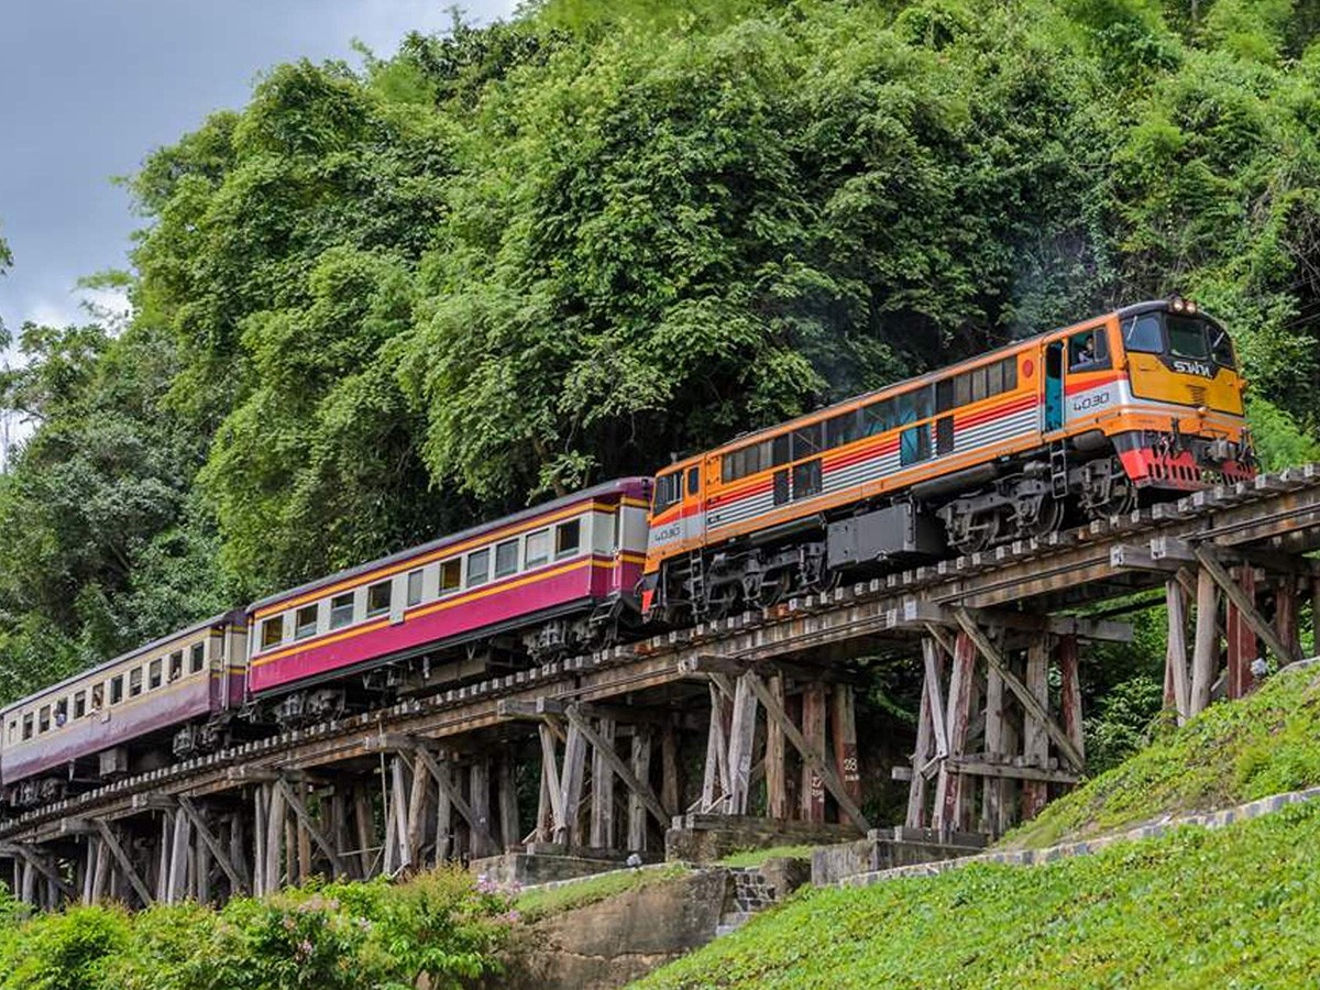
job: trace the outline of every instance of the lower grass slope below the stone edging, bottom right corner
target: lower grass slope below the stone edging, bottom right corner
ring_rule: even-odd
[[[639,986],[1308,986],[1317,890],[1312,803],[1047,866],[810,891]]]

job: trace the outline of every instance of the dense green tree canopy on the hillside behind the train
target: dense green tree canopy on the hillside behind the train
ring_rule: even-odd
[[[546,0],[271,69],[26,326],[0,692],[1180,290],[1313,449],[1320,5]],[[0,269],[8,263],[0,246]]]

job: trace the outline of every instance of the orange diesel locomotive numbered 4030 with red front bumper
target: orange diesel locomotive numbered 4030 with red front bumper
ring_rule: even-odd
[[[718,616],[1254,475],[1224,329],[1142,302],[746,434],[656,479],[642,606]]]

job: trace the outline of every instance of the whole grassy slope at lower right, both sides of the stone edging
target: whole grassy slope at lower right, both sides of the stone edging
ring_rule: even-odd
[[[1059,801],[1043,846],[1320,781],[1320,672],[1275,678]],[[1031,869],[809,891],[643,986],[1300,986],[1320,968],[1320,804]]]

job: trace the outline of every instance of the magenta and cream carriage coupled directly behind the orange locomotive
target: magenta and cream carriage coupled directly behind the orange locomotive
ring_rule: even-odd
[[[649,492],[607,482],[256,602],[252,704],[296,723],[609,642]]]

